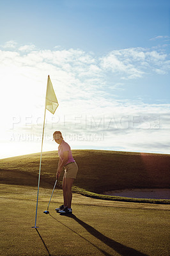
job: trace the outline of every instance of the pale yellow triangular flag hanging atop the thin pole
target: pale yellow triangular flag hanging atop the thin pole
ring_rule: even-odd
[[[56,109],[58,108],[58,100],[56,94],[54,92],[54,88],[50,81],[50,76],[48,76],[47,81],[47,92],[45,97],[45,108],[50,111],[50,113],[54,114]]]

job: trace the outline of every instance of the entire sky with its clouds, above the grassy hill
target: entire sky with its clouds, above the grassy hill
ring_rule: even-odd
[[[40,151],[48,75],[59,108],[47,114],[44,150],[61,129],[72,148],[169,153],[169,6],[3,1],[0,157]]]

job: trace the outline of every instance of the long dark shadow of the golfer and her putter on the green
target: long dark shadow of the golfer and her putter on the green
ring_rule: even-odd
[[[52,218],[54,218],[52,215],[50,215],[50,216]],[[88,225],[84,221],[82,221],[79,218],[77,218],[74,214],[63,214],[63,216],[66,216],[68,218],[72,218],[73,220],[77,221],[77,223],[79,223],[82,227],[84,227],[89,232],[89,234],[91,234],[92,236],[96,237],[97,239],[102,241],[102,243],[105,243],[107,246],[112,248],[114,251],[120,253],[120,255],[122,255],[122,256],[132,256],[132,255],[135,255],[135,256],[148,256],[148,255],[146,255],[144,253],[141,253],[141,252],[139,252],[139,251],[137,251],[137,250],[135,250],[133,248],[130,248],[128,246],[120,244],[120,243],[112,240],[111,238],[109,238],[107,236],[104,236],[102,233],[98,232],[98,230],[96,230],[95,228],[91,227],[90,225]],[[64,225],[66,228],[72,230],[72,228],[67,227],[65,224],[63,224],[61,221],[57,220],[56,218],[54,218],[54,220],[58,221],[59,223]],[[84,238],[83,236],[81,236],[80,234],[75,232],[74,230],[72,230],[72,232],[74,232],[78,236],[82,237],[84,240],[88,241],[88,239]],[[100,248],[98,248],[95,244],[91,243],[90,241],[88,241],[88,243],[90,243],[93,246],[95,246],[98,250],[100,250],[100,252],[104,253],[104,255],[107,255],[107,256],[111,255],[111,254],[101,250]]]

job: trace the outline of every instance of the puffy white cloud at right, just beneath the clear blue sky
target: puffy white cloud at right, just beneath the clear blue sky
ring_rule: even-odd
[[[100,59],[100,65],[106,72],[119,74],[121,79],[136,79],[157,70],[159,74],[167,74],[167,58],[162,52],[137,47],[109,52]]]

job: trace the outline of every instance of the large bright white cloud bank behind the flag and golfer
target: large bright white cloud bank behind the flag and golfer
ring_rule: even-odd
[[[36,136],[42,133],[50,75],[59,107],[54,116],[47,111],[45,134],[49,137],[43,150],[56,147],[50,136],[55,129],[61,129],[73,148],[150,152],[160,148],[168,152],[169,104],[143,104],[114,97],[116,90],[123,90],[121,79],[137,79],[148,72],[166,74],[167,58],[165,53],[143,48],[112,51],[100,58],[81,49],[38,51],[33,45],[32,49],[24,45],[19,51],[0,51],[0,79],[4,85],[0,89],[4,109],[0,140],[12,143],[14,138],[13,143],[22,142],[23,148],[29,144],[30,150],[33,145],[34,151],[40,151]],[[83,136],[87,140],[82,140]]]

